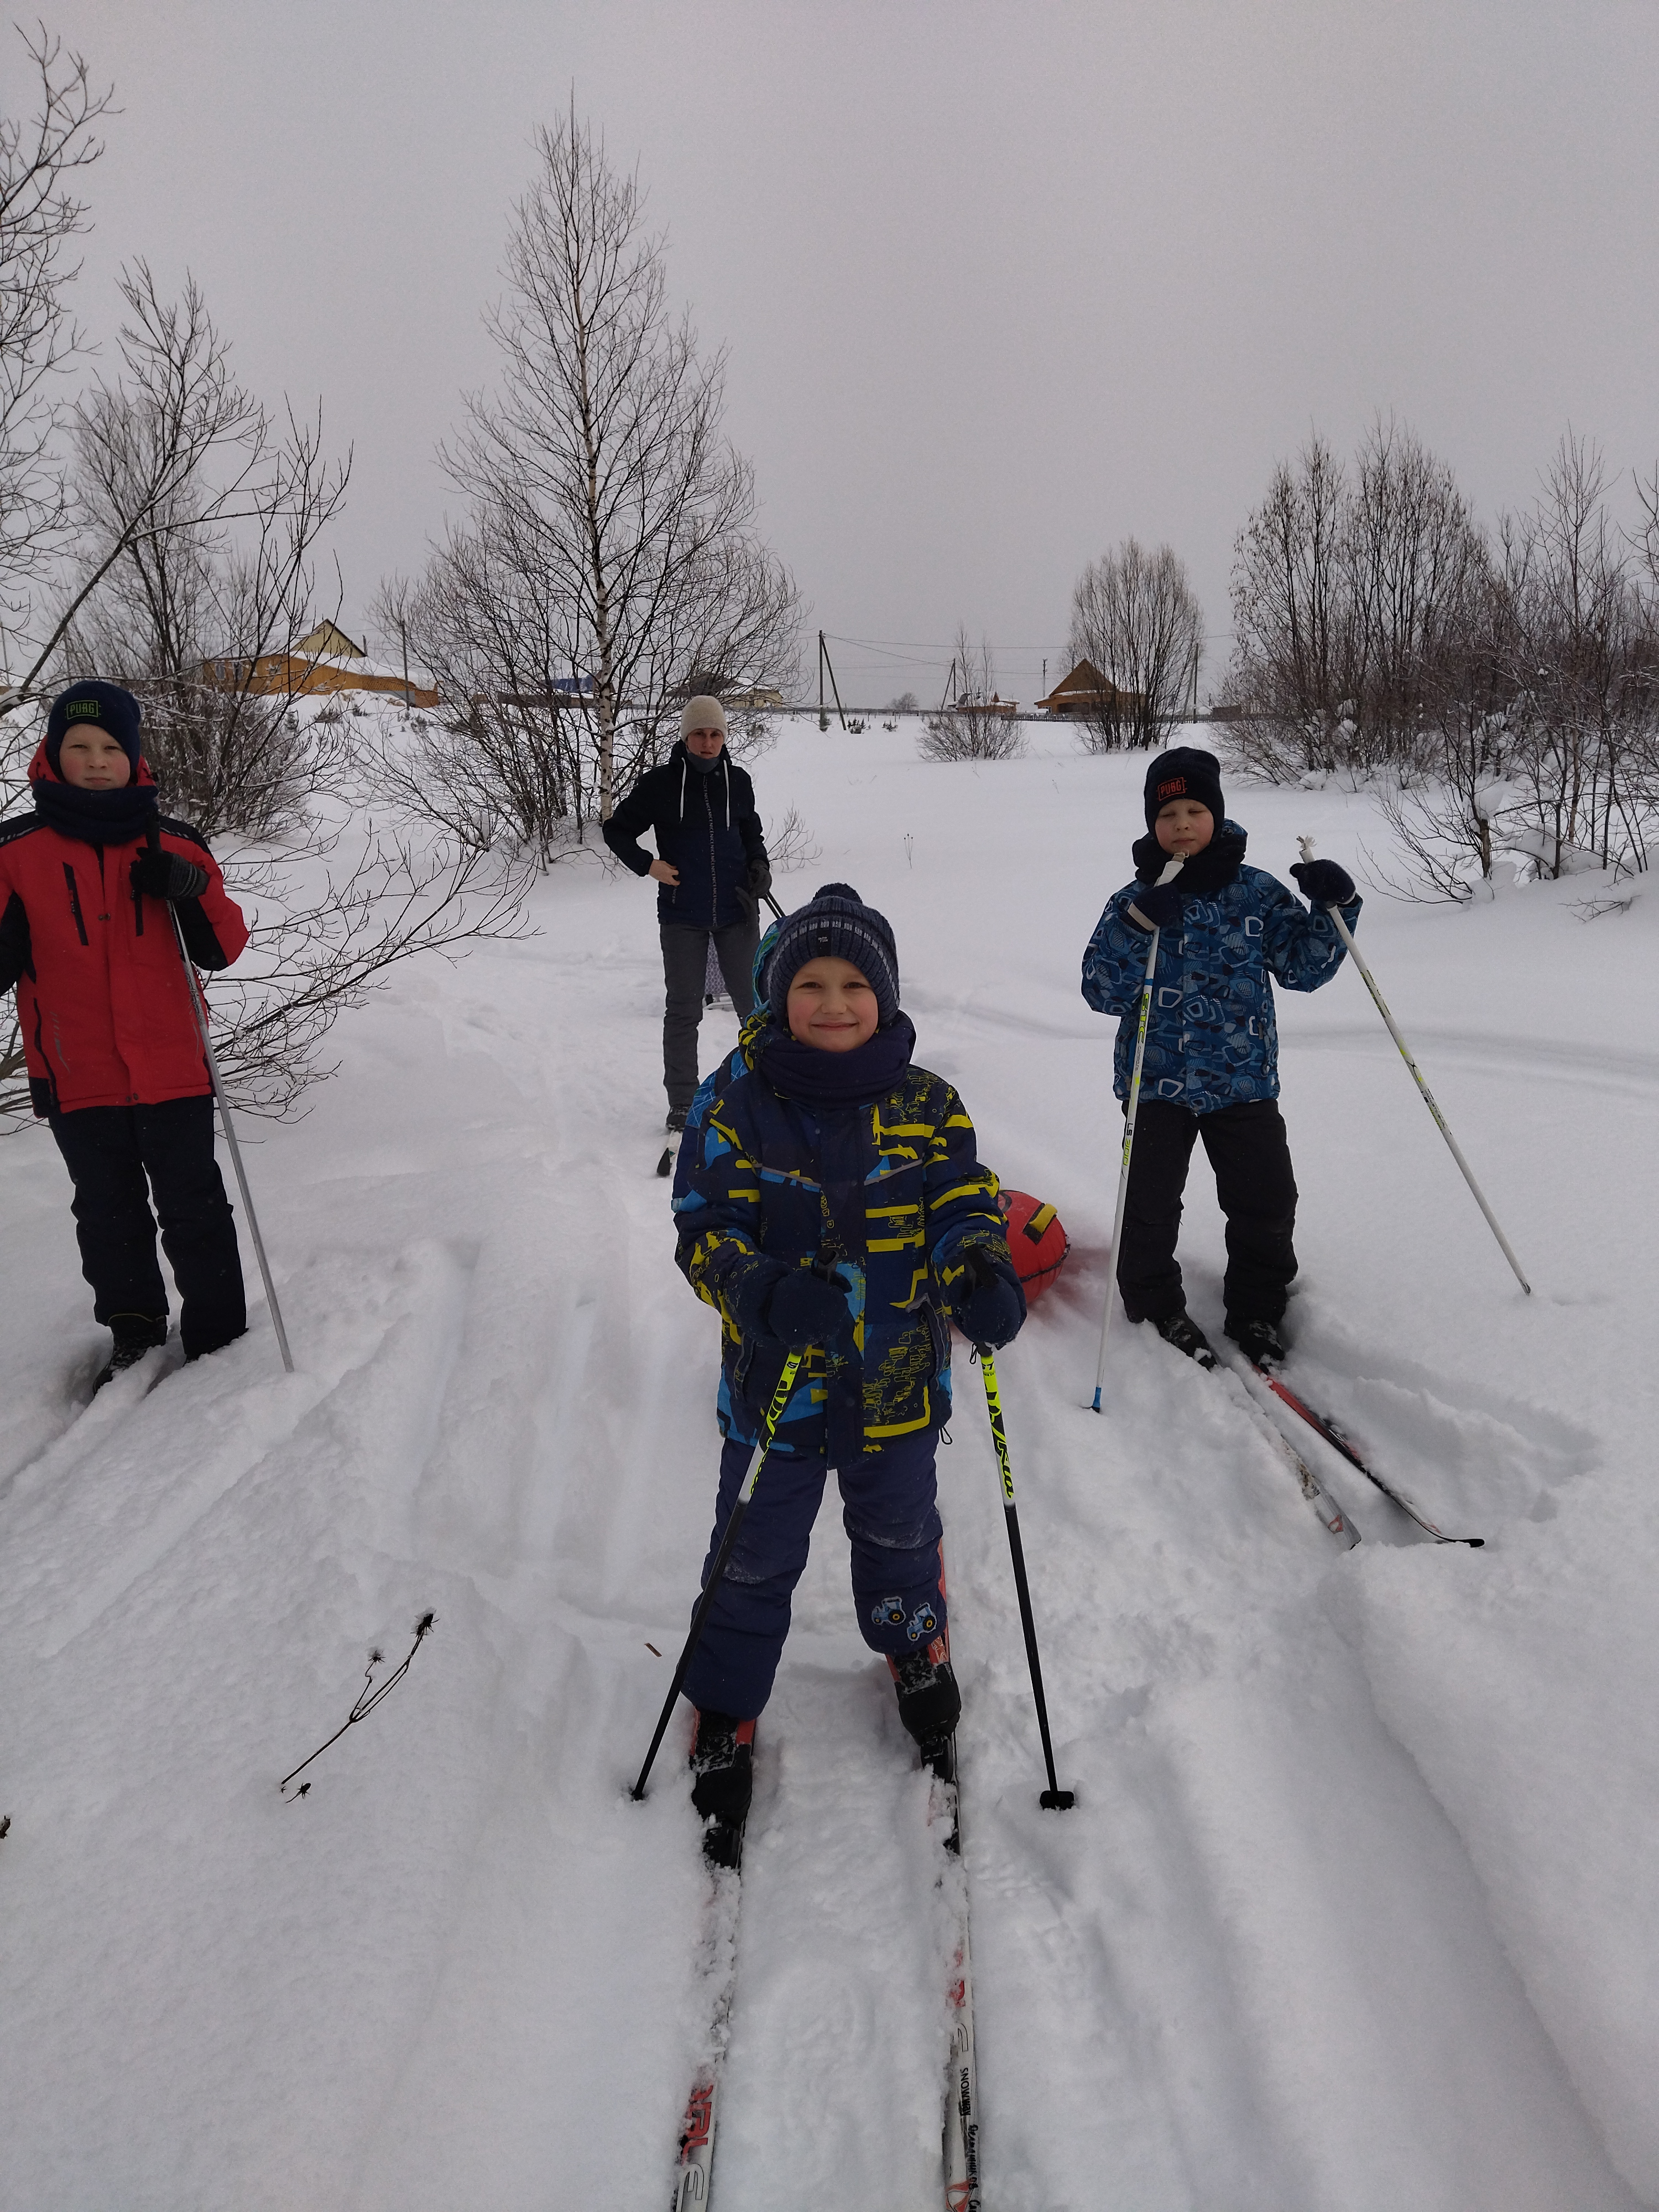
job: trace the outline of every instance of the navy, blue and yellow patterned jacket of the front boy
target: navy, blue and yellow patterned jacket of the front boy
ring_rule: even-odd
[[[874,1104],[814,1110],[763,1073],[770,1035],[761,1006],[692,1102],[677,1261],[721,1316],[721,1433],[754,1440],[787,1358],[768,1298],[787,1270],[836,1252],[847,1325],[801,1363],[776,1444],[847,1467],[949,1418],[947,1314],[971,1287],[962,1254],[980,1245],[1015,1290],[1018,1276],[998,1179],[945,1077],[905,1066]]]

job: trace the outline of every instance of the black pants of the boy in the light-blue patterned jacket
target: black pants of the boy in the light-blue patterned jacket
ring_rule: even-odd
[[[1274,1099],[1203,1115],[1168,1099],[1141,1099],[1117,1252],[1124,1312],[1130,1321],[1168,1321],[1186,1307],[1175,1239],[1194,1137],[1203,1137],[1228,1217],[1228,1325],[1279,1321],[1296,1274],[1296,1177]]]

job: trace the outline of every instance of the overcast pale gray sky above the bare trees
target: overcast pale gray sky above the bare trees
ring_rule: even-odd
[[[190,268],[261,396],[356,447],[347,628],[447,504],[531,131],[575,88],[730,347],[728,429],[843,692],[958,622],[1060,672],[1082,564],[1190,564],[1312,425],[1394,409],[1486,518],[1568,422],[1659,460],[1659,7],[42,0],[115,82],[80,312]],[[15,95],[15,60],[4,58]],[[807,672],[810,672],[807,657]]]

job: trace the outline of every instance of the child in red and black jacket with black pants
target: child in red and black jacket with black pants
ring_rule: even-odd
[[[18,991],[35,1113],[75,1186],[93,1316],[115,1336],[100,1389],[166,1343],[150,1197],[184,1356],[248,1327],[173,914],[199,969],[230,967],[248,927],[197,832],[157,814],[139,703],[117,684],[73,684],[53,701],[29,783],[35,812],[0,823],[0,991]]]

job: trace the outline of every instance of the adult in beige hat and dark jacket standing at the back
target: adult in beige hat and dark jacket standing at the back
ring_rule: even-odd
[[[657,838],[657,858],[639,834]],[[697,1095],[697,1026],[703,1020],[708,947],[714,945],[739,1022],[754,1011],[759,902],[772,889],[765,832],[754,812],[754,785],[726,750],[726,708],[688,699],[681,739],[661,768],[635,783],[604,825],[611,852],[657,880],[661,927],[664,1020],[661,1079],[668,1128],[686,1126]]]

